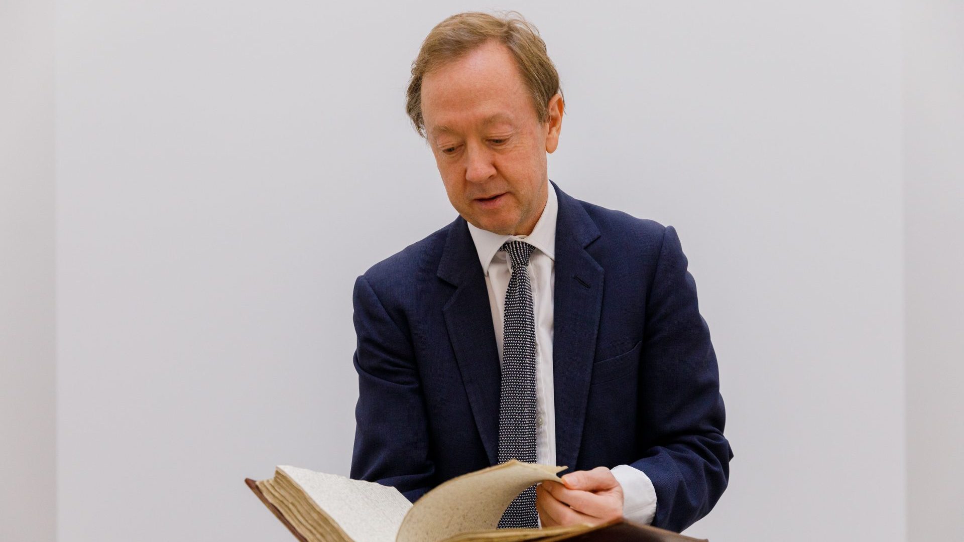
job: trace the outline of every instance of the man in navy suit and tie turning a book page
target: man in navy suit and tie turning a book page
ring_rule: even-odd
[[[733,457],[710,332],[672,227],[549,181],[563,109],[521,18],[453,15],[422,43],[408,113],[459,217],[355,284],[351,475],[415,501],[511,458],[565,465],[499,526],[680,531]]]

